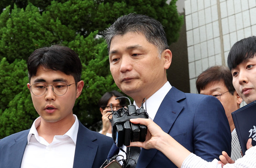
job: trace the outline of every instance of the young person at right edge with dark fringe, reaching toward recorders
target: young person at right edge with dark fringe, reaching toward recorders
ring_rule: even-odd
[[[228,66],[231,70],[232,83],[239,96],[249,104],[256,100],[256,36],[244,38],[236,42],[228,55]],[[149,119],[132,119],[131,122],[147,125],[148,134],[145,142],[131,142],[131,146],[145,149],[156,148],[163,152],[179,168],[256,168],[256,146],[252,147],[248,140],[245,156],[233,161],[226,152],[222,152],[220,161],[214,159],[207,162],[189,152],[171,136],[161,131]],[[245,123],[246,124],[246,123]]]

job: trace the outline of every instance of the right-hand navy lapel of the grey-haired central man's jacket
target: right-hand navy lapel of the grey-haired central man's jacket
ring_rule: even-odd
[[[164,132],[168,133],[177,119],[184,106],[177,101],[185,99],[185,94],[180,90],[172,87],[164,97],[158,112],[154,118],[154,122],[160,126]],[[142,149],[138,160],[138,168],[146,168],[151,162],[158,150],[156,149]]]

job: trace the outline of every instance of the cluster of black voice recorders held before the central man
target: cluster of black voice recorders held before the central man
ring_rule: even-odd
[[[126,98],[130,105],[127,108],[120,108],[112,112],[111,126],[112,137],[117,147],[129,146],[130,142],[144,142],[147,135],[147,126],[141,124],[133,124],[130,119],[133,118],[148,118],[146,110],[143,108],[143,101],[141,108],[136,110],[135,105],[131,105],[131,100],[128,97],[118,97],[116,99]]]

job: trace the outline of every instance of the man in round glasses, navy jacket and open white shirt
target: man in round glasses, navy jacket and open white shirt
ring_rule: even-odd
[[[30,90],[40,115],[31,129],[0,141],[0,168],[99,168],[113,144],[73,114],[80,96],[82,64],[68,47],[35,50],[27,60]]]

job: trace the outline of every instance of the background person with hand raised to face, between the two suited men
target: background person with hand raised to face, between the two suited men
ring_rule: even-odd
[[[112,137],[111,122],[112,113],[126,106],[125,98],[115,99],[124,96],[116,90],[106,92],[98,101],[99,110],[102,114],[102,130],[99,133]]]

